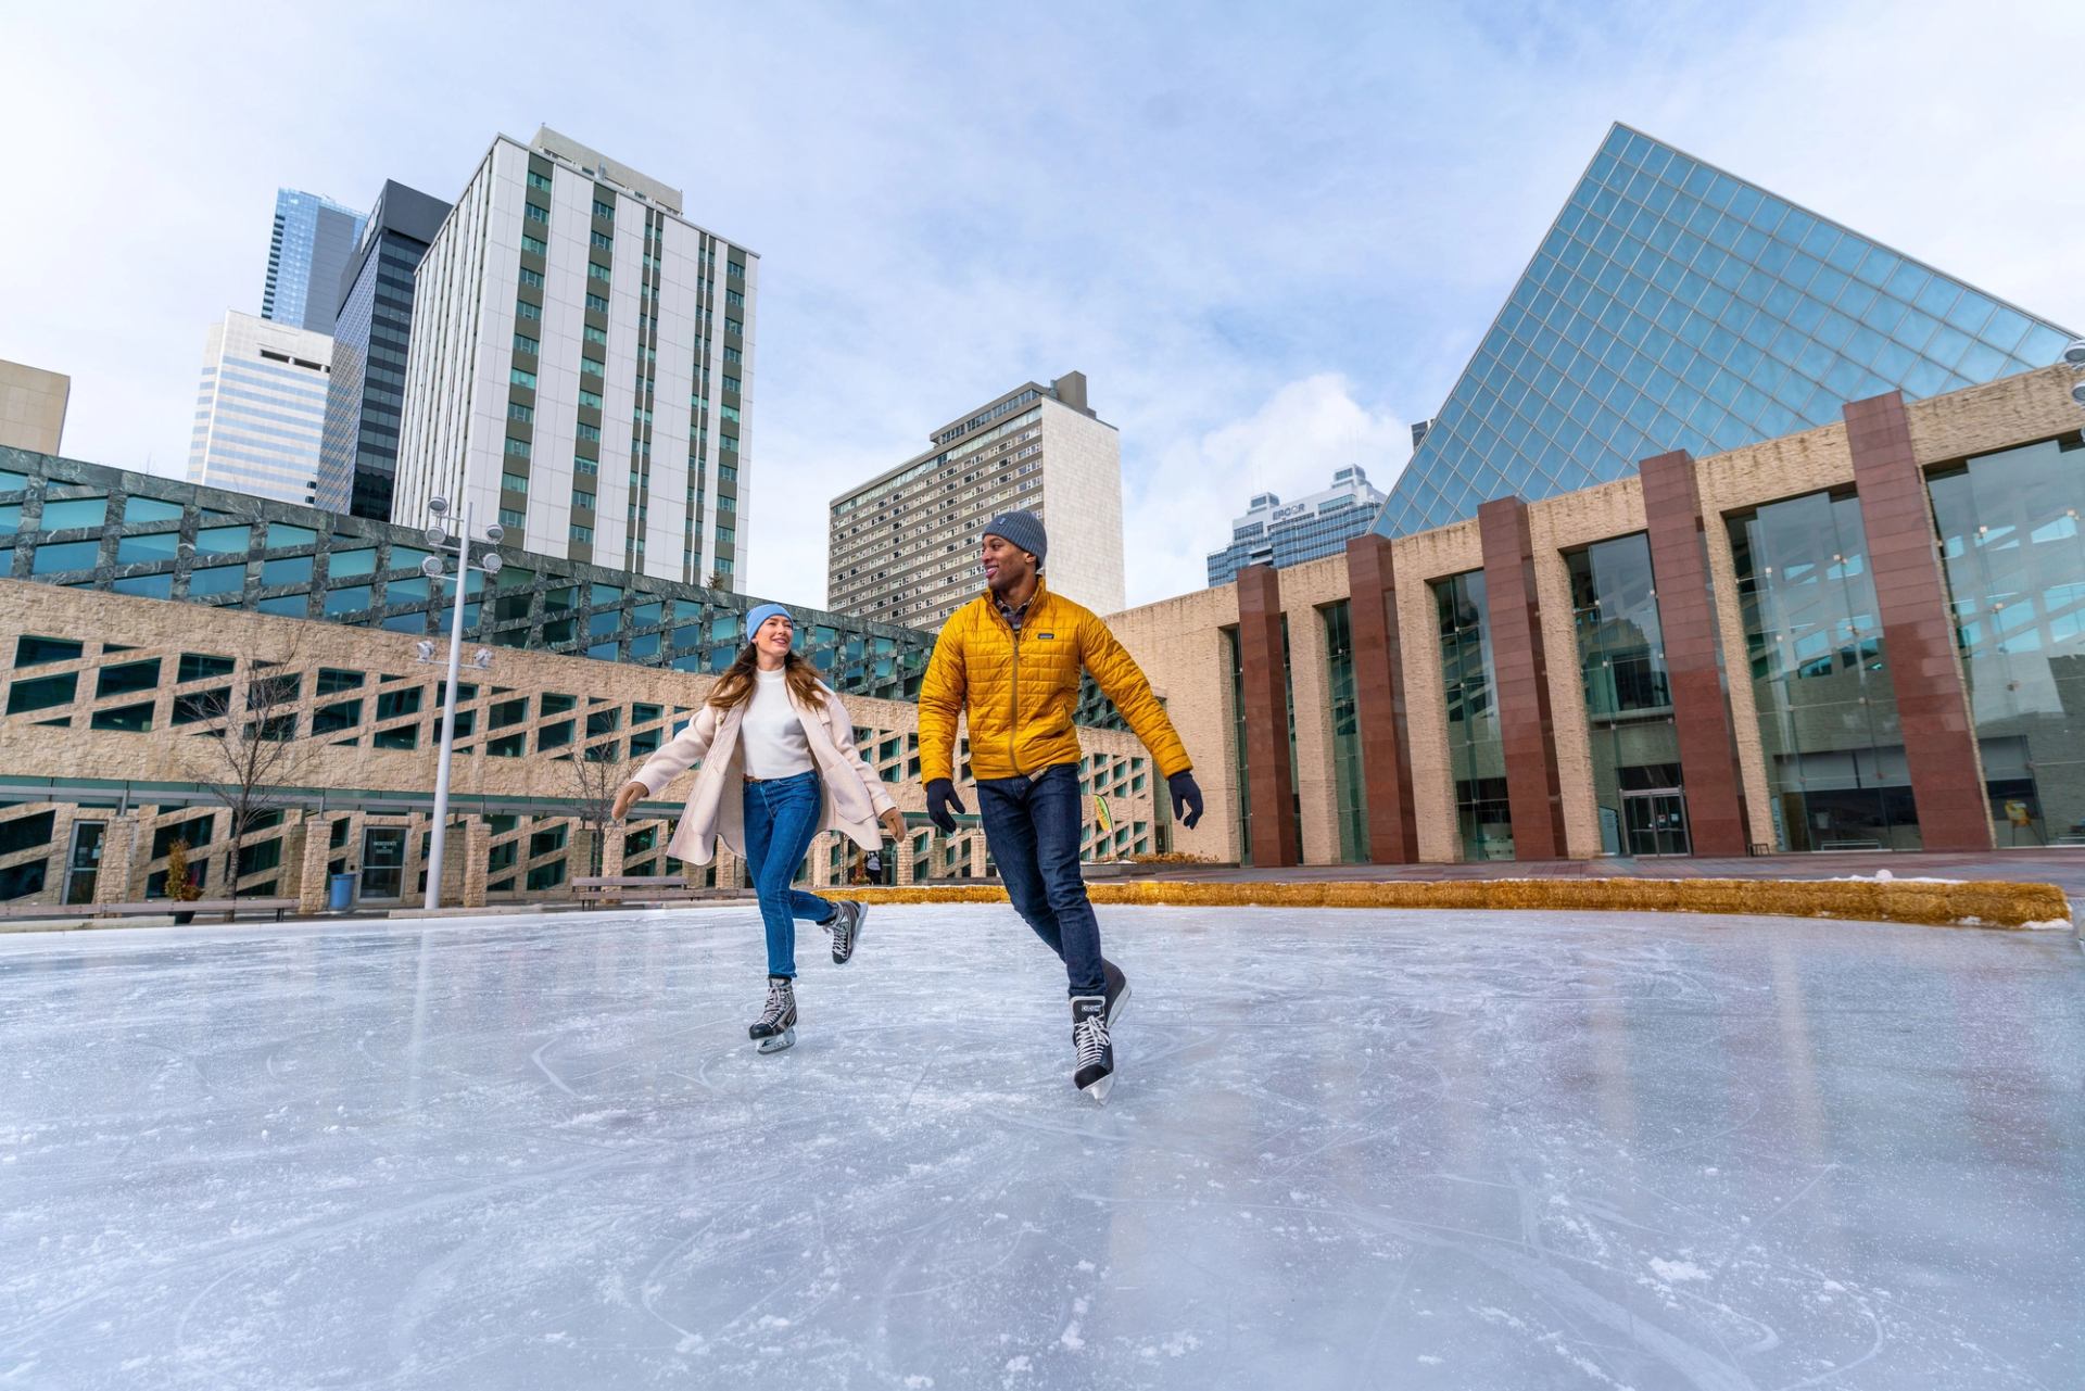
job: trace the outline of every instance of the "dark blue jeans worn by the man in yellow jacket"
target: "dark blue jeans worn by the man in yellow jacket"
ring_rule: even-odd
[[[1013,909],[1063,959],[1074,997],[1107,993],[1101,924],[1078,874],[1080,807],[1076,763],[1034,778],[978,778],[978,815],[999,878]]]

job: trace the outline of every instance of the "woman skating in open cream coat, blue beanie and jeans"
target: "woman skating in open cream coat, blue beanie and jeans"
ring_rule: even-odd
[[[761,1053],[796,1043],[796,920],[832,932],[832,959],[840,966],[861,941],[865,909],[859,903],[828,903],[790,888],[811,838],[838,830],[876,851],[882,830],[905,836],[897,803],[855,753],[853,715],[794,644],[788,609],[753,609],[746,646],[709,701],[615,795],[615,820],[621,820],[640,797],[657,797],[684,770],[703,763],[667,853],[707,865],[721,836],[753,874],[767,924],[767,1007],[746,1034]],[[713,751],[726,753],[703,757]]]

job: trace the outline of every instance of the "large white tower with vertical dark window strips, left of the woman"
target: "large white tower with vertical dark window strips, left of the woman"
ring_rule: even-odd
[[[557,131],[492,142],[419,265],[396,521],[734,588],[759,259]]]

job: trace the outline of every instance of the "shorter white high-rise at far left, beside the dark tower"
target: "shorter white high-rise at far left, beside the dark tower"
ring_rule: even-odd
[[[332,363],[325,334],[227,311],[202,348],[188,482],[309,505]]]

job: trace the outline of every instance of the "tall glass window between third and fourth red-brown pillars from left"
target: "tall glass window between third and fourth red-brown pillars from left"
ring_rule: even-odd
[[[1608,855],[1685,855],[1687,801],[1672,724],[1651,544],[1643,532],[1564,557],[1585,682],[1599,843]]]

